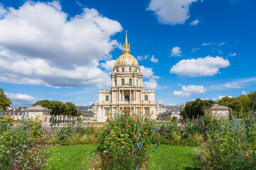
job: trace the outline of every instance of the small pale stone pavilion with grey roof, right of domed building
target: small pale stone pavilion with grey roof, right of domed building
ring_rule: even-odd
[[[205,108],[203,109],[204,113],[210,113],[215,117],[222,117],[222,118],[229,118],[229,111],[230,108],[226,106],[221,106],[218,104],[214,104],[211,108]]]

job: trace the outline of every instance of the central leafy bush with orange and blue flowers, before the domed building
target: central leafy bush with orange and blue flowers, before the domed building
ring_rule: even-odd
[[[154,120],[130,113],[110,113],[108,123],[97,132],[97,164],[95,169],[137,169],[149,158],[158,139]]]

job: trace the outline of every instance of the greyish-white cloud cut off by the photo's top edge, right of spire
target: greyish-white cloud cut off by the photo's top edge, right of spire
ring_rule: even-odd
[[[147,10],[154,11],[159,23],[182,24],[190,17],[189,6],[198,0],[151,0]]]

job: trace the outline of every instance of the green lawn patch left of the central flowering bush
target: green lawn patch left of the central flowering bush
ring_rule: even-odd
[[[50,169],[88,169],[96,145],[57,146],[49,158]]]

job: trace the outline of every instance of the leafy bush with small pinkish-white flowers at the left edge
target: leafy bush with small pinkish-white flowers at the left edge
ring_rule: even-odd
[[[24,120],[14,125],[14,118],[0,113],[0,169],[41,169],[46,166],[50,147],[48,132],[41,120]]]

